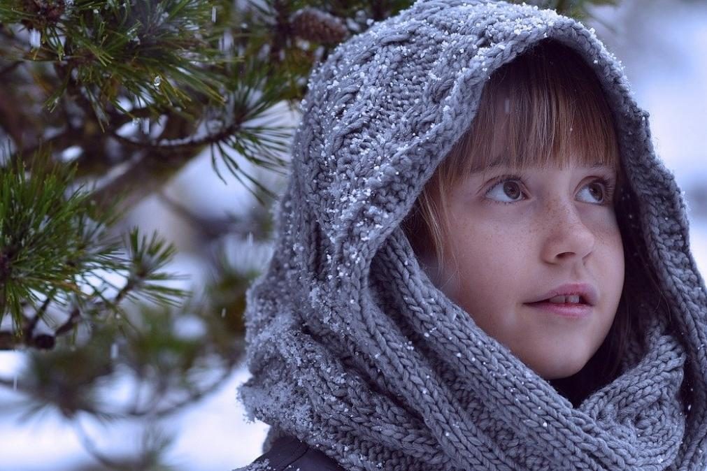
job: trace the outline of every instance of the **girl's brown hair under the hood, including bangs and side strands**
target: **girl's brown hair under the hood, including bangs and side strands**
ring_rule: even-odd
[[[491,75],[472,125],[427,182],[403,229],[418,256],[433,254],[440,275],[441,261],[449,258],[442,243],[449,221],[448,189],[472,172],[501,163],[522,169],[564,166],[569,160],[616,167],[620,184],[617,133],[595,73],[569,47],[544,40]],[[592,371],[567,378],[561,387],[573,401],[617,373],[630,328],[628,316],[621,314],[624,304],[622,297],[597,358],[575,376]]]

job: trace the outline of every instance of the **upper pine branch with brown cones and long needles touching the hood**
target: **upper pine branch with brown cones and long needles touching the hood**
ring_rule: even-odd
[[[375,8],[384,13],[406,4],[386,2]],[[33,95],[43,94],[47,109],[62,109],[65,119],[47,116],[47,120],[64,129],[49,138],[23,137],[19,130],[27,126],[14,126],[18,131],[11,136],[18,153],[13,160],[32,153],[41,141],[51,141],[57,156],[69,148],[82,150],[76,160],[77,175],[105,174],[115,165],[131,162],[129,172],[93,198],[103,205],[124,196],[124,208],[163,186],[204,148],[210,148],[221,179],[218,161],[249,189],[255,186],[267,194],[233,160],[229,148],[255,165],[283,171],[282,155],[291,129],[262,118],[277,103],[298,100],[315,61],[349,35],[337,14],[370,8],[365,2],[354,2],[346,11],[305,4],[295,9],[290,2],[268,1],[264,6],[249,2],[235,11],[231,2],[221,0],[214,4],[218,13],[214,22],[212,4],[197,0],[42,5],[10,1],[0,6],[0,21],[11,26],[4,32],[16,42],[16,51],[30,51],[16,54],[16,64],[22,66],[13,70],[40,70],[42,64],[53,64],[42,66],[49,87],[39,94],[33,90]],[[229,16],[233,21],[221,20]],[[247,32],[240,28],[245,22]],[[224,37],[231,38],[233,47],[226,47]],[[322,49],[317,40],[329,45]],[[242,63],[243,56],[249,58],[248,64]],[[248,100],[243,101],[244,97]],[[156,124],[161,117],[170,124],[180,118],[185,126],[177,124],[176,133],[159,138],[121,131],[129,121]],[[214,118],[221,121],[215,132],[198,132],[201,124]],[[71,125],[77,119],[83,126]],[[118,158],[115,141],[120,143]],[[111,154],[110,159],[103,157]],[[136,179],[139,185],[132,183]]]

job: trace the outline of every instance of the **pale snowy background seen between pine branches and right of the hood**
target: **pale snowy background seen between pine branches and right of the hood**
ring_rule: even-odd
[[[692,249],[707,273],[707,2],[624,0],[619,8],[602,7],[595,13],[598,20],[591,25],[622,59],[639,105],[650,112],[655,148],[686,191]],[[252,204],[236,184],[218,180],[208,155],[185,168],[166,193],[209,213],[238,213]],[[141,203],[131,219],[148,230],[160,229],[180,249],[189,244],[189,229],[158,198]],[[204,267],[186,253],[173,270],[192,274],[197,283]],[[21,364],[21,354],[0,352],[0,375],[12,376]],[[235,399],[246,378],[245,369],[239,369],[216,393],[165,423],[177,431],[168,455],[175,469],[231,470],[260,454],[267,427],[247,423]],[[50,411],[23,418],[13,407],[18,398],[11,390],[0,390],[0,471],[88,470],[95,465],[71,425]],[[136,446],[136,435],[127,426],[85,425],[108,450]]]

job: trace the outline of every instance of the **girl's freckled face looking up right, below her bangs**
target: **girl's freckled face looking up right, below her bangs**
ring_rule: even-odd
[[[600,165],[501,165],[447,194],[438,285],[543,378],[582,369],[614,321],[624,284],[616,179]]]

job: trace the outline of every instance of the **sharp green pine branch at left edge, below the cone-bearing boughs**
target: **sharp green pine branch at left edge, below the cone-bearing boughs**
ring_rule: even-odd
[[[107,233],[119,213],[98,212],[82,188],[69,191],[74,169],[50,165],[47,158],[35,157],[45,163],[37,163],[29,176],[20,165],[0,175],[0,321],[6,313],[13,319],[13,330],[0,332],[0,347],[51,349],[58,335],[73,332],[87,318],[119,314],[124,297],[160,304],[182,299],[185,292],[164,285],[180,277],[160,271],[174,247],[157,234],[148,239],[134,229],[124,241],[127,256],[120,256],[119,244]],[[125,274],[112,301],[103,297],[102,287],[86,283],[99,272]],[[71,306],[70,314],[54,333],[35,335],[49,303]]]

